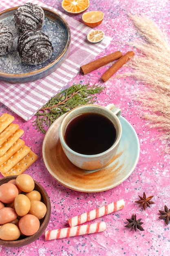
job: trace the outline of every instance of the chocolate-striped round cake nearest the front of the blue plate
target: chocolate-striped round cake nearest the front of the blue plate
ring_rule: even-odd
[[[18,38],[17,51],[24,63],[40,65],[50,58],[53,46],[41,31],[26,31]]]

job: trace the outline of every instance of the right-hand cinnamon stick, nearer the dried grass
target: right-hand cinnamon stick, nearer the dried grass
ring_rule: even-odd
[[[103,82],[106,82],[120,67],[122,67],[135,53],[133,51],[127,52],[118,61],[116,61],[102,76],[101,79]]]

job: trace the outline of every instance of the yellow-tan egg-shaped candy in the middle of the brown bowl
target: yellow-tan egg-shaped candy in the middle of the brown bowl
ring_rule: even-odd
[[[30,210],[31,202],[24,194],[19,194],[16,196],[14,201],[15,211],[19,216],[26,215]]]

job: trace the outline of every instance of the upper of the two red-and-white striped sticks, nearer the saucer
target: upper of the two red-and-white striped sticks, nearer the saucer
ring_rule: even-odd
[[[125,202],[123,199],[121,199],[117,202],[112,202],[111,204],[104,205],[98,209],[89,211],[87,213],[82,213],[81,215],[75,216],[73,218],[69,218],[68,224],[70,225],[70,227],[75,227],[87,221],[94,220],[109,213],[113,213],[114,211],[118,211],[124,208],[124,206]]]

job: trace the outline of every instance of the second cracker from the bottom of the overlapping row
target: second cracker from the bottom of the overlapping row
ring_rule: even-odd
[[[15,164],[17,164],[21,159],[23,159],[26,155],[29,154],[31,148],[24,145],[20,148],[14,155],[12,155],[4,164],[0,166],[1,173],[7,173]]]

